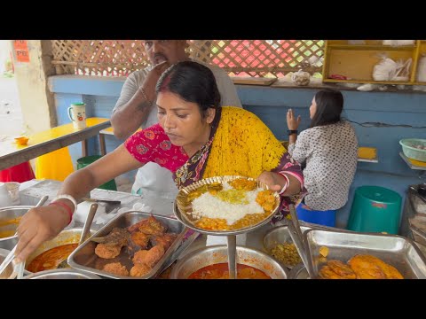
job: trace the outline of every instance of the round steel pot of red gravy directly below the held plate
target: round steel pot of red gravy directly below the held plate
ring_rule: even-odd
[[[287,279],[288,270],[266,253],[237,246],[237,279]],[[186,254],[172,268],[171,279],[229,279],[226,245]]]

